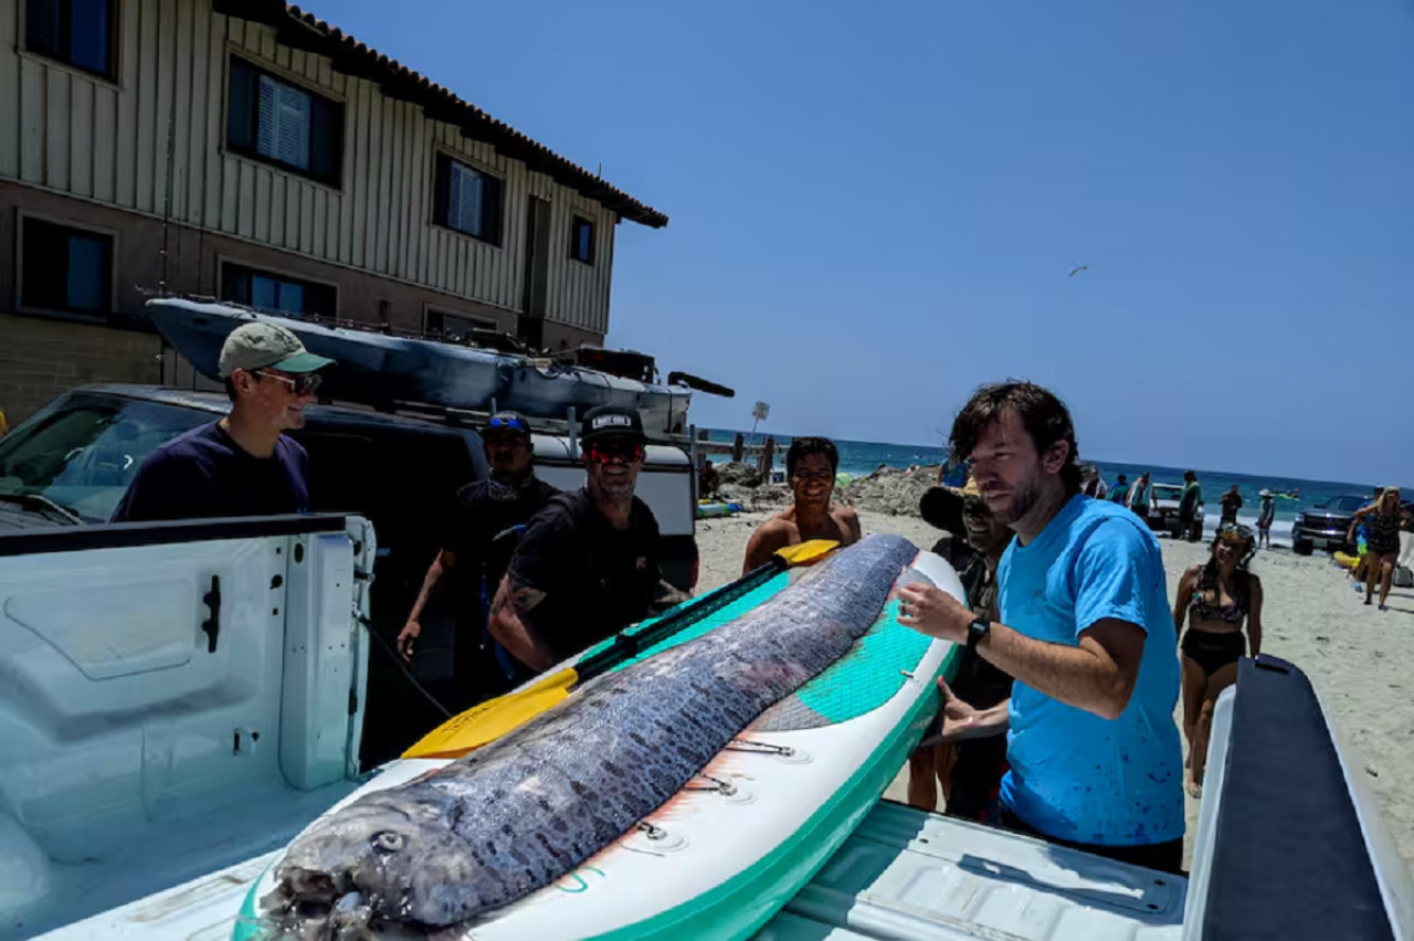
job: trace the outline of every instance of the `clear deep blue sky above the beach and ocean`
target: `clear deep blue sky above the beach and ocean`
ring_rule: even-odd
[[[609,345],[700,425],[939,444],[1021,376],[1082,456],[1414,483],[1411,3],[310,8],[669,213]]]

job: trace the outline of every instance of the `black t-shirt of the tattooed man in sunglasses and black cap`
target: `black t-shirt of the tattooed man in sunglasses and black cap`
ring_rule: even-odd
[[[658,520],[633,497],[626,530],[615,530],[583,489],[561,493],[530,521],[510,576],[544,592],[534,609],[560,657],[648,616],[662,579]]]

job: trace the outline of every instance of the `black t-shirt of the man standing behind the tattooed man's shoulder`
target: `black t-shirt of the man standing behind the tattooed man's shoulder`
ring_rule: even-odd
[[[455,552],[457,568],[468,572],[472,585],[484,575],[486,589],[495,595],[520,541],[515,534],[501,541],[496,537],[529,523],[559,493],[559,487],[540,478],[530,478],[525,486],[515,489],[491,480],[468,483],[457,490],[443,548]]]

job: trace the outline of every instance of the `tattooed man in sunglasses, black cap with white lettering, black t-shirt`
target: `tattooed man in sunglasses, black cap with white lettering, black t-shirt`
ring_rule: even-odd
[[[580,441],[584,489],[536,514],[491,605],[491,633],[536,673],[687,598],[662,579],[658,520],[633,496],[638,411],[591,408]]]

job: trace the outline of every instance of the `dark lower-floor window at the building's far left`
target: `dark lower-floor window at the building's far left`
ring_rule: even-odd
[[[25,218],[21,239],[21,307],[69,314],[112,309],[112,236]]]

